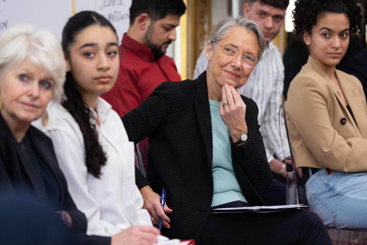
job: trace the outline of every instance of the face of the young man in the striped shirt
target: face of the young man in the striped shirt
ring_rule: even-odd
[[[286,16],[286,9],[282,10],[268,4],[262,4],[260,1],[252,3],[251,6],[245,3],[243,11],[246,18],[250,18],[260,27],[266,43],[273,40],[279,33]]]

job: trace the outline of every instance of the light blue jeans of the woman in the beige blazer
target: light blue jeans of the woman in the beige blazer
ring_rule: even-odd
[[[325,226],[367,228],[367,173],[329,174],[320,169],[306,182],[310,211],[317,213]]]

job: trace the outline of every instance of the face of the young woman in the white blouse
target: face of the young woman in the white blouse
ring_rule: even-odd
[[[84,102],[112,89],[120,64],[115,32],[105,26],[89,26],[75,36],[69,50],[68,70]]]

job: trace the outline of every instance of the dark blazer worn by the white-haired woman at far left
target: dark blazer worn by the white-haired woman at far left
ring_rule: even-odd
[[[35,154],[39,156],[53,174],[59,186],[59,207],[55,211],[66,211],[72,219],[71,229],[77,233],[81,244],[110,244],[110,238],[87,236],[87,219],[80,212],[71,198],[65,177],[57,163],[52,141],[46,134],[33,126],[27,131],[30,144]],[[29,189],[31,185],[37,198],[47,200],[46,188],[41,176],[29,162],[19,143],[15,140],[8,125],[0,114],[0,188],[16,195],[18,188]],[[26,176],[26,177],[25,177]],[[15,187],[17,186],[17,187]]]

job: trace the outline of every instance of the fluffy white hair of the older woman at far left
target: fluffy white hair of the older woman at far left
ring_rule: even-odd
[[[58,38],[49,31],[36,31],[32,25],[18,24],[0,38],[0,79],[23,61],[44,69],[54,79],[52,100],[59,102],[63,95],[66,61]]]

